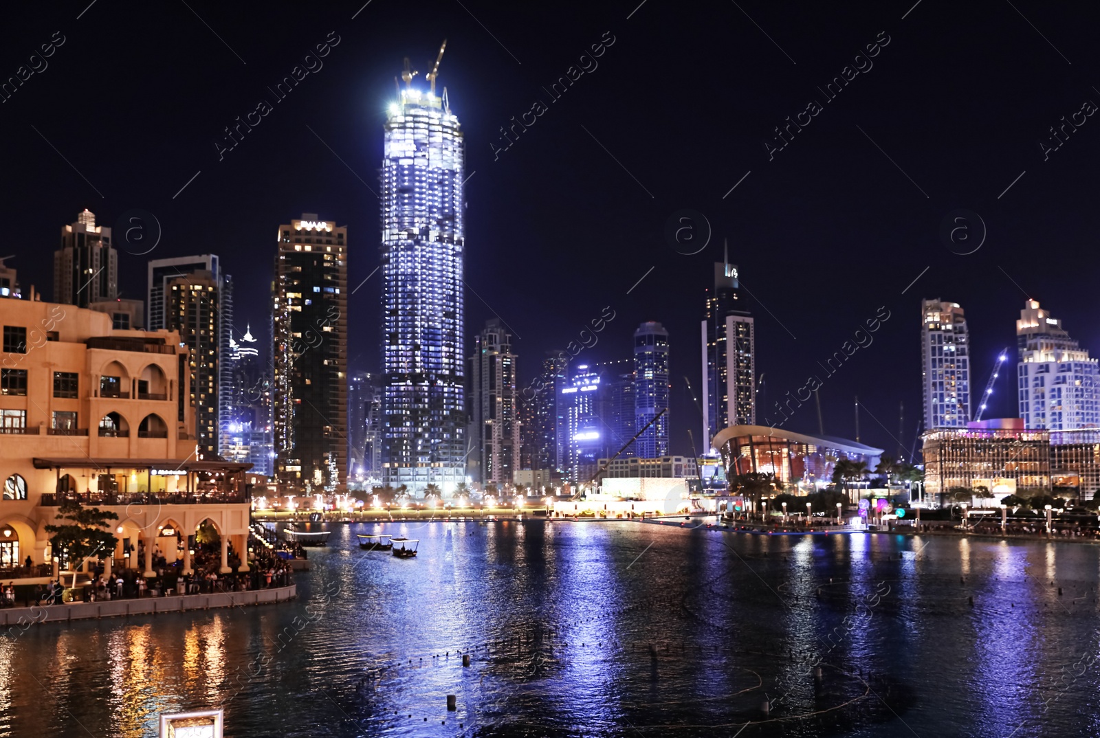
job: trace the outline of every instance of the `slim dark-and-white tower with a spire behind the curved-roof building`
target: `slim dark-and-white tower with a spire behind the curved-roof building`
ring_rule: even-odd
[[[724,428],[756,425],[756,329],[739,289],[727,253],[714,265],[702,327],[704,450]]]

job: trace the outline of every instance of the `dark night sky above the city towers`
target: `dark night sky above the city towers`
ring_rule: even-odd
[[[998,352],[1014,346],[1026,296],[1100,350],[1100,117],[1079,112],[1100,103],[1096,7],[87,4],[4,8],[0,76],[38,69],[0,104],[0,256],[15,255],[24,290],[52,295],[59,229],[82,208],[100,224],[131,210],[161,223],[144,255],[147,241],[128,246],[116,231],[123,297],[144,298],[147,258],[219,254],[239,332],[251,321],[266,335],[276,228],[302,212],[348,225],[349,284],[360,285],[380,263],[372,189],[394,76],[409,56],[425,86],[446,37],[439,86],[465,131],[470,174],[468,345],[498,315],[529,381],[546,350],[579,341],[606,306],[616,317],[579,363],[626,357],[640,321],[663,322],[676,453],[691,452],[689,428],[698,439],[683,377],[698,390],[704,290],[724,239],[751,293],[761,425],[766,405],[817,374],[826,433],[855,437],[858,395],[860,439],[894,452],[904,401],[908,454],[921,416],[922,298],[966,309],[975,396]],[[304,60],[336,38],[323,66]],[[31,58],[52,40],[51,56]],[[312,70],[276,103],[268,86],[296,65]],[[571,67],[578,79],[552,101],[543,88]],[[826,85],[844,76],[829,100]],[[224,126],[262,100],[273,110],[219,159]],[[547,110],[495,151],[507,145],[499,129],[538,101]],[[812,102],[816,114],[796,118]],[[774,129],[789,117],[793,134],[778,150]],[[1068,133],[1060,146],[1056,125]],[[692,242],[667,236],[682,210],[697,213],[684,223]],[[956,210],[980,222],[964,213],[971,238],[957,231],[953,243],[941,231]],[[707,228],[707,245],[690,253]],[[349,300],[352,368],[378,367],[380,300],[377,274]],[[890,318],[873,343],[825,377],[818,362],[880,307]],[[1007,374],[987,417],[1016,415],[1014,367]],[[816,411],[804,406],[784,427],[815,432]]]

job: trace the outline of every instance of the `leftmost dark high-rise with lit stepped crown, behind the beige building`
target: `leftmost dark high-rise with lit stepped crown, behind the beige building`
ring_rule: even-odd
[[[62,227],[61,247],[54,252],[54,301],[88,307],[119,295],[119,254],[111,229],[96,225],[96,213],[85,208],[72,225]]]

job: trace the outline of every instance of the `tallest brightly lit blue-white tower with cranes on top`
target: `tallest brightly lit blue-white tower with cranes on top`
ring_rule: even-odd
[[[440,49],[442,56],[442,49]],[[447,89],[405,87],[382,161],[383,481],[443,494],[465,477],[463,137]]]

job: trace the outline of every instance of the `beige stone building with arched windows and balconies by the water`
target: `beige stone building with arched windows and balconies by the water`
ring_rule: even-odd
[[[209,521],[221,570],[232,547],[246,571],[251,465],[197,460],[178,333],[114,330],[110,315],[29,297],[0,299],[0,579],[88,565],[51,550],[64,498],[119,516],[108,565],[148,576],[160,553],[186,573]]]

